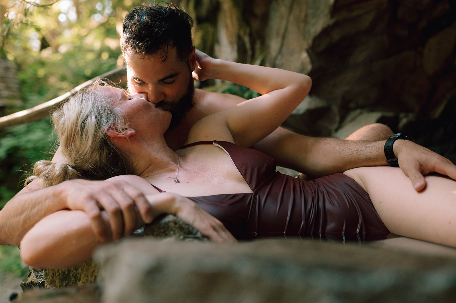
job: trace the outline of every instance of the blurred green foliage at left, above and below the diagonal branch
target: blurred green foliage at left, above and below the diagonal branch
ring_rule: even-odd
[[[9,0],[1,53],[18,70],[21,108],[31,108],[124,64],[117,28],[139,0],[59,0],[35,7]],[[30,1],[29,1],[30,2]],[[51,1],[41,1],[49,3]],[[0,5],[1,6],[1,5]],[[1,8],[1,7],[0,7]],[[9,27],[8,27],[9,26]],[[0,209],[21,188],[31,165],[49,159],[55,136],[49,118],[0,129]]]

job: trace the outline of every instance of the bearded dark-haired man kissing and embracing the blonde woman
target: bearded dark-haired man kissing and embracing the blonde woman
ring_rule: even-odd
[[[130,92],[147,94],[150,102],[173,114],[166,133],[166,142],[173,149],[178,149],[187,140],[193,123],[244,101],[228,94],[194,90],[192,71],[199,69],[194,77],[205,80],[211,76],[211,62],[216,59],[203,57],[197,62],[192,46],[192,25],[192,19],[175,7],[139,6],[125,17],[120,37]],[[162,51],[165,55],[159,56]],[[279,128],[254,148],[271,155],[281,166],[322,176],[359,166],[387,165],[383,147],[392,134],[381,124],[360,129],[348,138],[350,140],[311,138]],[[398,140],[394,144],[394,154],[415,190],[424,189],[422,174],[429,172],[456,179],[455,165],[417,144]],[[57,151],[53,162],[61,157]],[[309,158],[319,160],[309,163]],[[136,222],[136,209],[145,222],[152,220],[144,195],[130,185],[79,179],[40,190],[38,180],[34,180],[0,211],[0,244],[19,246],[22,237],[36,222],[62,209],[85,211],[101,239],[108,229],[114,239],[130,235]],[[109,226],[104,225],[100,209],[108,213]]]

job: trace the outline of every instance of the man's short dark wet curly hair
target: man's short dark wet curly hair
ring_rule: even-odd
[[[165,49],[167,55],[171,46],[176,47],[180,61],[187,60],[192,51],[193,23],[192,17],[175,5],[137,6],[124,19],[120,37],[122,54],[149,56]]]

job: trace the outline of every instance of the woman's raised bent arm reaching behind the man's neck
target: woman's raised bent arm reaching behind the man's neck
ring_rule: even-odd
[[[214,124],[225,124],[234,143],[250,147],[273,132],[307,96],[311,78],[278,68],[241,64],[214,59],[196,51],[198,65],[193,72],[197,80],[221,79],[249,87],[262,94],[236,106],[215,113],[195,124],[192,135],[201,139],[221,139]],[[199,133],[199,134],[198,134]]]

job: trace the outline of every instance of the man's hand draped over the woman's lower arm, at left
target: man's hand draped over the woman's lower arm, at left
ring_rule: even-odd
[[[101,240],[106,240],[109,235],[101,210],[109,215],[114,240],[133,233],[140,219],[137,218],[136,209],[145,223],[153,220],[152,207],[145,195],[125,181],[76,179],[55,186],[58,187],[58,195],[66,201],[68,209],[81,210],[88,215],[93,231]]]

